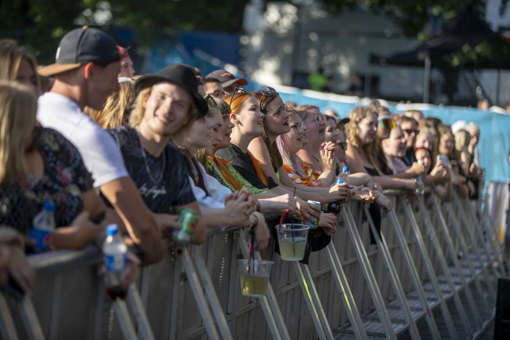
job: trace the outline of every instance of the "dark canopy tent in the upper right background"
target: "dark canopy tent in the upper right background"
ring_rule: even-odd
[[[390,57],[371,54],[370,63],[425,67],[423,101],[428,102],[431,65],[442,70],[455,70],[447,57],[452,53],[462,51],[465,45],[475,47],[490,39],[503,38],[492,31],[486,21],[474,14],[470,9],[465,9],[462,13],[446,22],[441,33],[432,41],[421,43],[409,51],[397,53]],[[479,60],[477,63],[463,64],[462,68],[510,69],[510,60],[502,58],[502,56],[491,56],[490,59]]]

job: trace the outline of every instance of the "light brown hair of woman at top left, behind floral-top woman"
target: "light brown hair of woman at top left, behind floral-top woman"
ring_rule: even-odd
[[[15,81],[19,71],[21,60],[25,59],[34,69],[36,74],[35,87],[41,91],[41,80],[37,75],[37,62],[35,58],[22,46],[19,46],[15,40],[0,40],[0,79]]]

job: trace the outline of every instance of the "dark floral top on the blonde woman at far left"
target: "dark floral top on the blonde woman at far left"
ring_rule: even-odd
[[[37,150],[44,173],[41,178],[28,175],[20,186],[38,206],[37,212],[45,201],[54,202],[56,226],[68,226],[83,210],[81,193],[93,188],[92,176],[77,148],[53,129],[42,128]]]

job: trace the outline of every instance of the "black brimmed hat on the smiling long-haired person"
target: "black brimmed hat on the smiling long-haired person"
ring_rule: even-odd
[[[202,116],[205,116],[209,111],[206,100],[197,92],[200,84],[195,74],[183,64],[170,64],[157,74],[146,74],[139,77],[135,83],[135,91],[139,93],[141,90],[161,82],[172,83],[188,91]]]

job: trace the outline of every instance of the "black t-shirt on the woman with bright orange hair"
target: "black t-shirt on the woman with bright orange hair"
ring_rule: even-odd
[[[216,152],[216,155],[224,159],[225,161],[232,162],[232,166],[243,176],[250,184],[259,189],[266,188],[266,185],[257,177],[257,173],[253,169],[253,163],[249,154],[244,153],[239,147],[232,144],[226,149],[221,149]],[[271,178],[267,178],[267,188],[273,189],[278,185]]]

